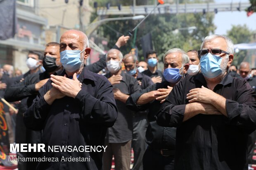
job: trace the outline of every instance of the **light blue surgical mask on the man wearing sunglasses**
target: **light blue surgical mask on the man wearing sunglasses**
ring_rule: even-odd
[[[211,53],[201,56],[200,65],[201,65],[201,72],[203,73],[203,75],[210,79],[220,75],[223,72],[220,68],[222,59],[223,59],[222,57],[212,55]]]

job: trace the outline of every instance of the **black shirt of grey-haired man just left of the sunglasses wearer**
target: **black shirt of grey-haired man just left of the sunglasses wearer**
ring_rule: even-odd
[[[130,97],[126,100],[126,106],[135,111],[143,111],[145,109],[149,109],[149,126],[146,131],[145,140],[147,144],[154,149],[175,150],[176,128],[167,128],[157,125],[155,116],[161,106],[160,101],[154,100],[153,102],[149,102],[145,105],[137,105],[136,102],[142,94],[155,91],[159,88],[167,88],[168,85],[169,83],[166,81],[153,84],[152,86],[149,86],[138,93],[130,95]]]

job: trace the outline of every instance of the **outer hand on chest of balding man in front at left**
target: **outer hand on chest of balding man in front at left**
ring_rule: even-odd
[[[52,86],[57,88],[64,95],[72,98],[76,98],[76,95],[81,91],[82,84],[76,77],[76,73],[73,74],[73,79],[69,79],[64,76],[51,75]]]

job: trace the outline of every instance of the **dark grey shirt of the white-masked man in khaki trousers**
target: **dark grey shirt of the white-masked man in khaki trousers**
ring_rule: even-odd
[[[107,78],[111,77],[110,73],[105,75]],[[119,84],[114,84],[113,88],[118,88],[122,93],[131,95],[140,90],[140,85],[137,80],[121,72],[123,79]],[[108,142],[109,143],[123,143],[133,138],[133,114],[134,112],[128,109],[125,103],[116,100],[118,108],[118,116],[113,127],[108,129]]]

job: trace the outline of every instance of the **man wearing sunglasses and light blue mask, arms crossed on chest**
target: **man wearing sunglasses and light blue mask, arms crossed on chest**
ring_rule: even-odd
[[[198,52],[201,74],[181,79],[157,114],[160,126],[177,127],[175,169],[248,169],[256,96],[245,80],[227,74],[233,52],[230,38],[207,36]]]

